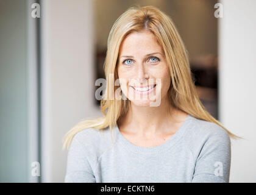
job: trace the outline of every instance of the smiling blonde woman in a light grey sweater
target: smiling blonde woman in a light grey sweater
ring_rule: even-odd
[[[132,7],[107,46],[104,116],[66,133],[65,182],[229,182],[230,137],[238,137],[201,104],[171,19]],[[110,99],[111,75],[125,98]]]

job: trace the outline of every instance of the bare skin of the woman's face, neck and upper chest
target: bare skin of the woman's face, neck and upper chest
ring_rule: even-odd
[[[119,79],[123,80],[121,90],[131,103],[126,116],[118,119],[119,131],[137,146],[152,147],[165,143],[180,128],[187,113],[169,104],[171,75],[163,49],[154,34],[144,30],[127,35],[119,49],[117,71]],[[149,97],[132,99],[131,92],[135,90],[130,87],[133,83],[129,79],[134,79],[137,86],[142,83],[143,87],[157,83],[157,79],[160,79],[160,84],[149,93]],[[151,79],[153,83],[149,82]],[[159,99],[160,104],[152,107],[151,102]]]

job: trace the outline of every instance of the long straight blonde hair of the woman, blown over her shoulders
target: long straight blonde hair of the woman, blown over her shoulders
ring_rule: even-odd
[[[119,46],[124,38],[133,31],[150,30],[157,38],[165,52],[166,62],[171,73],[171,86],[168,90],[169,101],[174,108],[182,110],[197,119],[214,122],[232,138],[240,138],[229,132],[217,121],[202,105],[196,93],[193,75],[190,71],[188,53],[182,39],[177,32],[172,19],[154,6],[139,5],[130,7],[113,24],[107,41],[107,55],[104,62],[104,71],[107,79],[107,88],[101,99],[101,111],[104,116],[79,122],[69,130],[63,138],[63,149],[69,147],[77,132],[87,128],[104,130],[116,126],[120,116],[124,116],[129,109],[129,100],[108,99],[112,89],[108,87],[109,75],[118,79],[116,63],[118,61]],[[114,87],[116,90],[117,87]],[[112,134],[111,134],[112,135]]]

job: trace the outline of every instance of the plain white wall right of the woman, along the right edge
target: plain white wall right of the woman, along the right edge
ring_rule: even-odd
[[[232,133],[230,182],[256,182],[256,1],[225,0],[219,18],[219,115]]]

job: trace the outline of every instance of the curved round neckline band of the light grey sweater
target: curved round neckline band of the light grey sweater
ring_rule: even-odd
[[[130,141],[126,140],[123,134],[119,131],[119,127],[116,124],[116,126],[114,127],[114,130],[116,131],[116,143],[120,143],[123,147],[126,148],[127,151],[136,152],[140,154],[152,154],[163,152],[170,149],[180,140],[180,138],[182,138],[183,134],[185,133],[185,130],[188,127],[188,124],[190,124],[191,120],[189,119],[191,118],[193,118],[193,116],[188,114],[185,120],[182,122],[182,126],[180,126],[180,128],[176,131],[176,133],[174,133],[174,135],[172,135],[171,138],[169,138],[165,143],[153,147],[137,146],[135,144],[130,143]]]

